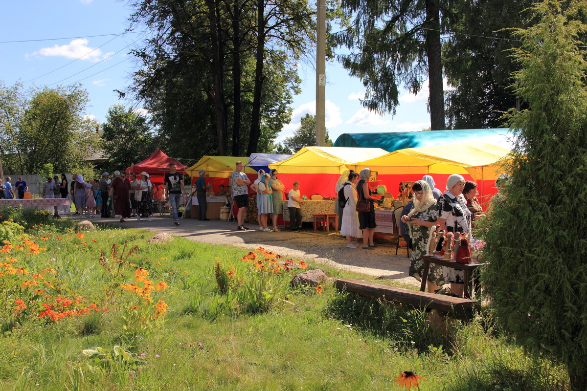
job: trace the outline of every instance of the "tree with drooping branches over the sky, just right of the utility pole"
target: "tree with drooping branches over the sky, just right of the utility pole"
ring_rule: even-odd
[[[353,16],[335,42],[353,50],[339,60],[366,87],[363,106],[395,115],[400,87],[419,93],[429,79],[430,123],[444,130],[441,33],[447,32],[451,0],[343,0]]]

